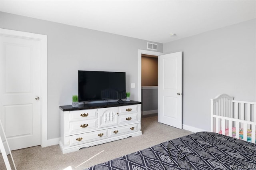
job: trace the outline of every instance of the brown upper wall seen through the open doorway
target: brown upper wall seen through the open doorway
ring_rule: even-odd
[[[141,57],[141,85],[158,85],[158,58]]]

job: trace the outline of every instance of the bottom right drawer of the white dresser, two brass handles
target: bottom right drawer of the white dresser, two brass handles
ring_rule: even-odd
[[[138,124],[126,125],[122,127],[110,128],[108,129],[109,137],[118,136],[121,134],[131,133],[138,131]]]

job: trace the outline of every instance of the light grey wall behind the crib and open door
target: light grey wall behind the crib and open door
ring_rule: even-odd
[[[210,130],[210,99],[256,101],[256,19],[164,43],[183,51],[183,124]]]

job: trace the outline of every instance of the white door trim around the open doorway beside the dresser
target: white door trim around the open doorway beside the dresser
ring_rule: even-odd
[[[156,52],[156,51],[148,51],[148,50],[144,50],[144,49],[139,49],[138,50],[138,101],[141,102],[141,55],[142,54],[147,54],[147,55],[163,55],[164,53],[162,52]]]

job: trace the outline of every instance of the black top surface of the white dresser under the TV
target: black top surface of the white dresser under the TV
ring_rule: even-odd
[[[82,104],[79,107],[72,107],[72,105],[59,106],[62,111],[77,111],[84,109],[98,109],[98,108],[106,108],[106,107],[117,107],[117,106],[126,106],[126,105],[137,105],[141,104],[140,101],[124,101],[124,103],[116,102],[105,102],[105,103],[93,103],[93,104]]]

